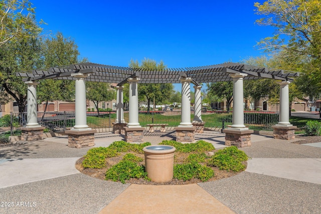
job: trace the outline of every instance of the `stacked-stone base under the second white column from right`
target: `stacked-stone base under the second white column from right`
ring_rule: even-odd
[[[251,146],[251,134],[253,130],[235,130],[235,129],[224,129],[225,133],[225,145],[227,146],[236,146],[236,147],[245,147]]]

